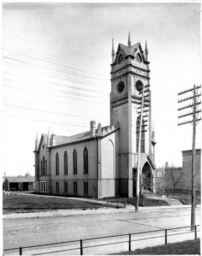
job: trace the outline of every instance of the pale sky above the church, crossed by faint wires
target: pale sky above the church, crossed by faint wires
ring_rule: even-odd
[[[112,37],[148,46],[156,166],[182,166],[192,125],[177,93],[199,85],[200,4],[4,3],[2,175],[34,175],[38,132],[70,136],[110,125]],[[186,96],[189,96],[187,94]],[[186,103],[185,103],[186,104]],[[189,120],[190,118],[188,118]],[[187,119],[184,119],[187,120]],[[196,148],[201,144],[197,125]]]

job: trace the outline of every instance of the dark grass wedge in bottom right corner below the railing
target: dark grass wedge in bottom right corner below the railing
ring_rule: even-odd
[[[131,252],[116,253],[116,255],[160,255],[160,254],[200,254],[200,238],[168,245],[136,249]]]

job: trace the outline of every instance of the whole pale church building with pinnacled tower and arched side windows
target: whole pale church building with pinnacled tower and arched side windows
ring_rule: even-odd
[[[35,191],[44,194],[134,197],[141,132],[140,185],[155,191],[155,133],[151,120],[147,43],[112,42],[110,125],[90,122],[74,136],[42,134],[35,139]],[[142,88],[144,108],[140,129]],[[78,113],[79,115],[79,113]]]

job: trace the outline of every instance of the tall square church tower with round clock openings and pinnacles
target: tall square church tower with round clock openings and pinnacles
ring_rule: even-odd
[[[115,55],[112,42],[110,125],[119,126],[119,193],[133,197],[135,195],[136,168],[138,159],[139,117],[141,90],[145,85],[145,108],[141,132],[140,170],[146,170],[147,188],[153,191],[155,168],[152,155],[151,91],[148,49],[145,54],[141,44],[134,45],[128,36],[128,45],[118,44]],[[144,132],[143,132],[144,131]],[[145,184],[146,187],[146,184]]]

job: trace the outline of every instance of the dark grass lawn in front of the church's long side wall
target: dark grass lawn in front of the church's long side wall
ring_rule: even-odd
[[[32,194],[12,194],[11,196],[3,197],[3,213],[11,212],[35,212],[35,211],[47,211],[50,209],[61,209],[61,208],[100,208],[105,205],[100,205],[97,202],[87,202],[74,200],[66,197],[44,197],[34,196]]]

